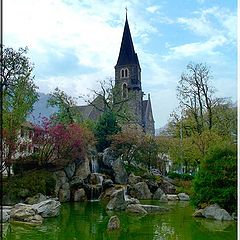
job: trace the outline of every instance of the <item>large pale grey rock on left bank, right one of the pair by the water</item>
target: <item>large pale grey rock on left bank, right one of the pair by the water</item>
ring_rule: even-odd
[[[60,213],[61,204],[54,199],[48,199],[40,203],[32,205],[38,214],[42,217],[55,217]]]

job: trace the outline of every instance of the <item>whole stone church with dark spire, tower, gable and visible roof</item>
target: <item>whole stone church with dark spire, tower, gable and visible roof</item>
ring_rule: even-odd
[[[115,66],[115,101],[122,100],[125,108],[131,114],[130,123],[137,124],[146,134],[154,135],[154,118],[150,94],[146,100],[142,91],[141,67],[137,53],[134,50],[132,36],[126,13],[121,47]],[[126,100],[126,101],[124,101]],[[78,109],[85,119],[96,120],[102,113],[103,101],[98,96],[92,104],[79,106]]]

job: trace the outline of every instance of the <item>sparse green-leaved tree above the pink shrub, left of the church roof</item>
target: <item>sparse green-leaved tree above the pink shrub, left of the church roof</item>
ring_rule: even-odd
[[[68,96],[59,88],[56,88],[54,92],[50,94],[48,106],[58,108],[58,112],[54,113],[52,116],[56,123],[71,124],[81,121],[81,115],[76,108],[75,99]]]

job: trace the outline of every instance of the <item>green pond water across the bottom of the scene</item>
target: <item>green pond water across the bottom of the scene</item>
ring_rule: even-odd
[[[150,203],[145,202],[145,203]],[[152,201],[152,204],[159,204]],[[5,224],[6,240],[233,240],[237,239],[236,222],[196,219],[188,203],[166,203],[164,214],[137,216],[125,212],[106,212],[100,202],[65,203],[57,218],[45,219],[38,227]],[[121,229],[108,232],[110,216],[116,214]]]

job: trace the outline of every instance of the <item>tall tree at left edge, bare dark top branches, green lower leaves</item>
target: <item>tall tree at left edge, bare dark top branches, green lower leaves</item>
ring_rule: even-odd
[[[10,166],[18,145],[21,125],[38,99],[33,65],[25,56],[27,48],[18,51],[4,48],[1,61],[2,127],[4,129],[4,165],[10,175]],[[3,170],[3,169],[2,169]]]

